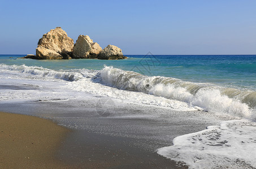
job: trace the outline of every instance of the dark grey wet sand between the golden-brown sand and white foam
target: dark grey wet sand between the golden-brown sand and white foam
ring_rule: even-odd
[[[134,141],[76,130],[68,135],[58,155],[79,168],[187,168],[177,167],[176,162],[144,150]]]

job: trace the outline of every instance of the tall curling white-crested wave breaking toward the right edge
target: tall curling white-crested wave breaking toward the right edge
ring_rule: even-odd
[[[184,101],[204,111],[228,113],[251,118],[256,106],[256,92],[215,86],[209,83],[192,83],[176,78],[148,77],[132,71],[105,66],[100,72],[102,83],[122,90]]]

